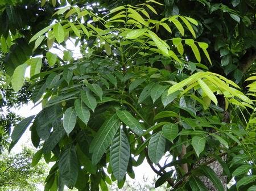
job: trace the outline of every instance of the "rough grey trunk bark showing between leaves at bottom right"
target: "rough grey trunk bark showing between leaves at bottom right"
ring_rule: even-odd
[[[226,156],[222,156],[222,160],[225,161]],[[207,161],[207,158],[204,158],[200,161],[200,163],[205,163]],[[212,168],[213,171],[216,173],[216,175],[220,178],[222,185],[224,189],[226,190],[226,176],[222,176],[223,168],[221,167],[221,164],[216,160],[210,164],[208,164],[208,167]],[[207,177],[201,176],[201,181],[203,181],[204,185],[207,186],[208,190],[210,191],[218,191],[214,185],[212,184],[212,181],[210,181]]]

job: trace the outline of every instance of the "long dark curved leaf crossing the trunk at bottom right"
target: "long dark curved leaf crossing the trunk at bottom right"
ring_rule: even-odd
[[[200,173],[203,173],[210,181],[213,182],[213,185],[218,191],[224,191],[222,182],[220,181],[219,177],[216,175],[216,173],[208,166],[201,166],[199,167]]]

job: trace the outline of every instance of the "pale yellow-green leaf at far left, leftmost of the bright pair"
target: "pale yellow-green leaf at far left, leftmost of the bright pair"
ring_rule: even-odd
[[[26,69],[27,63],[23,63],[14,70],[13,78],[11,79],[11,86],[15,92],[18,92],[23,86]]]

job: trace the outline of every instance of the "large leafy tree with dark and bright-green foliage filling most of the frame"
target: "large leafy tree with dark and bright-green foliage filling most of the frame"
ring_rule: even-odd
[[[55,162],[46,189],[121,188],[146,159],[171,189],[225,190],[234,177],[230,190],[254,190],[254,2],[68,3],[2,12],[11,86],[20,90],[30,67],[31,100],[43,105],[14,128],[10,149],[32,124],[38,156]]]

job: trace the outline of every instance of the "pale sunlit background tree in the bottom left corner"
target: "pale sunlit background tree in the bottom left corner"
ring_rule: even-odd
[[[35,154],[30,148],[24,147],[22,152],[13,155],[3,153],[0,156],[0,188],[6,189],[36,189],[43,185],[46,179],[47,165],[39,162],[31,166],[32,156]]]

